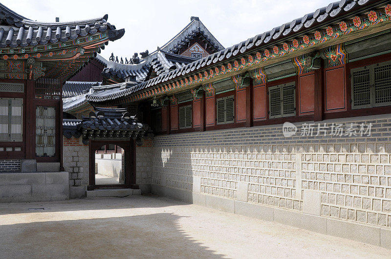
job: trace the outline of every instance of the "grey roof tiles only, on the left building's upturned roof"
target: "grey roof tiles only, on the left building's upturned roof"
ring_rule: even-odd
[[[107,22],[108,15],[100,18],[69,22],[40,22],[30,20],[0,4],[0,19],[9,27],[0,28],[0,47],[26,47],[64,42],[97,32],[109,31],[110,40],[121,38],[125,30],[116,30]]]

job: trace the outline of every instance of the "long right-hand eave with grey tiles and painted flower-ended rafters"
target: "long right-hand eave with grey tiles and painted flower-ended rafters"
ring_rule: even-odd
[[[120,93],[112,90],[107,94],[93,93],[87,100],[115,105],[171,95],[180,89],[190,89],[343,42],[348,35],[387,26],[390,20],[390,2],[341,0],[134,87],[118,88]]]

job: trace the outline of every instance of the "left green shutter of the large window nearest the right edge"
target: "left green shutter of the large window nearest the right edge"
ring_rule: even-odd
[[[352,108],[371,107],[370,69],[354,69],[351,72]]]

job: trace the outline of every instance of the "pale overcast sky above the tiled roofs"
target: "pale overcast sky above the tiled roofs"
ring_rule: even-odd
[[[101,55],[129,58],[156,50],[197,16],[216,39],[230,47],[326,6],[331,0],[2,0],[31,20],[85,20],[109,15],[108,22],[125,28]]]

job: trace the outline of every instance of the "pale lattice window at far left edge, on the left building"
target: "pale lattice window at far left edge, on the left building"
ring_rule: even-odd
[[[0,141],[22,141],[23,99],[0,98]]]

